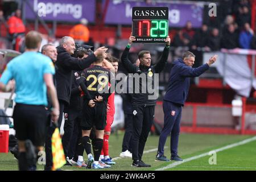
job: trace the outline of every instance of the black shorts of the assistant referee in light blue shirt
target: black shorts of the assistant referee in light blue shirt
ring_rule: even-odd
[[[47,113],[43,105],[16,104],[13,112],[18,140],[30,139],[35,146],[44,146]]]

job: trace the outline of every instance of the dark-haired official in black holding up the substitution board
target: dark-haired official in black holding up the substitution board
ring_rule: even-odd
[[[139,75],[144,74],[147,77],[147,79],[152,79],[152,85],[150,85],[149,87],[154,88],[154,74],[160,73],[167,63],[169,47],[171,42],[170,37],[168,36],[166,39],[166,47],[164,48],[159,63],[154,66],[151,66],[151,56],[149,51],[139,52],[139,67],[136,67],[129,61],[129,49],[131,43],[134,40],[135,37],[130,36],[129,43],[123,51],[121,57],[122,63],[129,73],[138,73]],[[148,90],[146,93],[141,92],[142,88],[147,88],[146,80],[142,81],[142,79],[136,79],[134,83],[135,85],[139,84],[139,93],[134,93],[135,90],[133,90],[133,94],[131,94],[131,103],[133,106],[132,166],[150,167],[149,164],[145,164],[144,162],[142,162],[141,159],[143,155],[144,146],[146,144],[146,140],[148,137],[148,133],[150,132],[150,128],[152,126],[152,122],[154,119],[156,99],[149,99],[150,94],[148,93]]]

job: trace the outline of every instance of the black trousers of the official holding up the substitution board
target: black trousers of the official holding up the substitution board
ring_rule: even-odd
[[[133,160],[141,160],[155,117],[155,106],[133,106]]]

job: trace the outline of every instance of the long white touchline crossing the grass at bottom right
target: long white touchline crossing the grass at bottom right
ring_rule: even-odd
[[[256,140],[256,137],[252,137],[252,138],[249,138],[249,139],[245,139],[245,140],[242,140],[241,142],[229,144],[229,145],[227,145],[227,146],[225,146],[225,147],[217,148],[216,150],[212,150],[212,151],[215,151],[215,152],[224,151],[224,150],[227,150],[227,149],[229,149],[229,148],[241,146],[242,144],[246,144],[246,143],[252,142],[252,141],[254,141],[254,140]],[[204,156],[208,156],[208,155],[209,155],[209,152],[205,152],[204,154],[196,155],[196,156],[193,156],[193,157],[191,157],[191,158],[184,159],[183,161],[174,162],[174,163],[172,163],[172,164],[169,164],[169,165],[166,166],[166,167],[162,167],[162,168],[155,169],[155,171],[163,171],[164,169],[174,168],[174,167],[176,167],[176,166],[178,166],[178,165],[180,165],[180,164],[189,162],[189,161],[191,161],[191,160],[203,158]]]

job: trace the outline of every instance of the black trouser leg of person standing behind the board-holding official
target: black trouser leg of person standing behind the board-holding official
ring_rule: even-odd
[[[122,152],[131,152],[131,139],[133,136],[133,114],[125,114],[125,135],[123,135]]]

